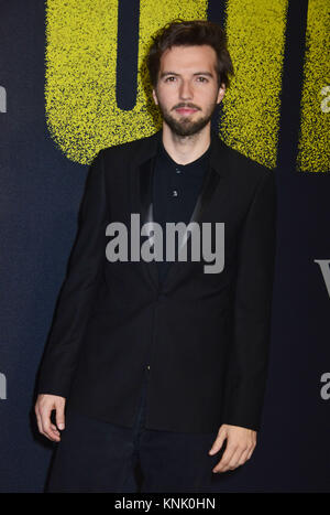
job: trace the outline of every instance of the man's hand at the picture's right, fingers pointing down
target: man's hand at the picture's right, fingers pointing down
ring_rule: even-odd
[[[243,465],[245,461],[250,460],[256,446],[256,431],[223,423],[219,429],[209,454],[220,451],[226,438],[226,451],[212,472],[226,472]]]

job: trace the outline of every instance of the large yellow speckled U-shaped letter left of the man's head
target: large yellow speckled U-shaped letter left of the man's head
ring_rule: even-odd
[[[46,119],[67,158],[88,164],[101,148],[155,132],[141,66],[150,36],[174,18],[206,19],[207,6],[207,0],[140,1],[136,104],[127,111],[116,103],[118,0],[47,0]]]

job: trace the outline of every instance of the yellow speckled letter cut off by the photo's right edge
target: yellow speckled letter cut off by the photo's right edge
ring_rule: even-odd
[[[330,164],[330,3],[309,0],[298,169],[328,172]]]

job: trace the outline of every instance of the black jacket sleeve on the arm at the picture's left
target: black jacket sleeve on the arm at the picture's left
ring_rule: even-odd
[[[108,223],[102,152],[88,171],[78,233],[41,364],[38,394],[67,397],[102,275]]]

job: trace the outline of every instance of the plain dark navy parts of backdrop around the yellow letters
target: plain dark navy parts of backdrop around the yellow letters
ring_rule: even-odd
[[[118,74],[124,77],[136,72],[139,2],[131,11],[119,3]],[[35,374],[77,229],[87,165],[67,159],[47,131],[44,2],[0,6],[0,85],[7,92],[7,111],[0,112],[0,489],[42,492],[53,444],[36,431]],[[254,455],[238,474],[223,476],[223,490],[233,492],[330,491],[330,399],[321,396],[321,376],[330,372],[330,299],[314,261],[330,259],[330,176],[296,169],[307,11],[307,0],[289,2],[270,379]],[[208,18],[224,23],[223,2],[210,1]],[[134,105],[132,84],[124,81],[117,92],[122,108]]]

